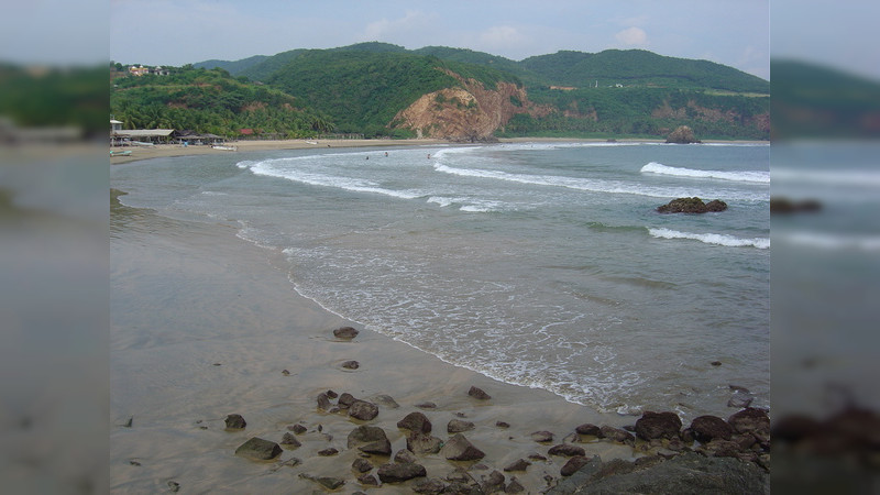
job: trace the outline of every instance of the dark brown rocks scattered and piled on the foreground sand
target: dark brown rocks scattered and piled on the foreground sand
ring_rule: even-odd
[[[358,331],[352,328],[334,331],[338,339],[352,339],[356,334]],[[491,399],[487,393],[475,386],[470,388],[469,395],[477,400]],[[581,425],[561,442],[554,441],[551,431],[535,431],[530,435],[531,440],[547,448],[546,455],[536,452],[526,459],[493,468],[483,464],[485,453],[464,435],[474,430],[476,425],[465,420],[463,415],[448,422],[446,437],[433,435],[433,425],[425,413],[414,411],[403,416],[396,426],[405,432],[406,448],[393,452],[386,431],[370,422],[378,416],[380,406],[394,409],[398,405],[389,396],[378,396],[373,400],[333,391],[323,392],[317,397],[319,410],[346,415],[356,420],[353,425],[359,426],[348,432],[346,448],[356,449],[359,457],[351,466],[340,466],[340,472],[351,472],[354,483],[363,488],[407,483],[404,485],[406,488],[427,494],[520,493],[526,488],[517,480],[516,473],[525,473],[532,463],[546,462],[548,457],[561,457],[566,461],[559,477],[544,477],[544,490],[551,493],[573,493],[585,486],[605,486],[603,490],[626,493],[627,484],[642,486],[638,490],[644,490],[646,480],[654,484],[656,490],[651,493],[681,493],[681,488],[675,488],[679,486],[676,483],[688,483],[691,488],[700,486],[701,490],[716,493],[761,493],[768,490],[770,420],[763,409],[746,407],[727,420],[701,416],[691,421],[688,428],[682,428],[682,421],[674,413],[649,411],[631,427]],[[421,410],[437,407],[433,403],[415,406]],[[229,415],[226,425],[228,430],[246,428],[246,421],[240,415]],[[509,428],[509,425],[496,421],[494,427]],[[241,444],[235,454],[255,461],[274,460],[285,449],[300,447],[297,436],[306,433],[307,428],[293,425],[287,430],[277,443],[253,437]],[[587,455],[584,447],[581,447],[595,441],[630,446],[638,459],[635,462],[613,460],[603,463],[597,455]],[[319,451],[318,455],[332,457],[338,453],[337,449],[328,448]],[[442,477],[430,476],[420,463],[420,459],[425,458],[446,459],[454,462],[457,468]],[[293,458],[284,464],[299,463],[300,460]],[[346,475],[319,476],[304,472],[299,476],[329,491],[339,490],[352,481]]]

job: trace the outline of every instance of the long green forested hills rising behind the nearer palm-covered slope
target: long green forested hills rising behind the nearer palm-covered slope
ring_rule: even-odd
[[[437,121],[429,122],[425,108],[416,120],[430,128],[431,135],[449,127],[449,119],[474,118],[473,108],[471,113],[450,113],[442,92],[465,87],[466,95],[457,105],[492,101],[492,108],[479,110],[484,121],[486,112],[504,116],[495,119],[497,135],[661,138],[682,124],[704,139],[770,135],[769,81],[707,61],[640,50],[563,51],[516,62],[465,48],[410,51],[372,42],[196,65],[210,68],[212,64],[242,80],[261,81],[297,98],[326,114],[338,132],[367,136],[411,136],[426,131],[414,128],[413,119],[395,116],[416,101],[425,107],[428,95],[436,95]],[[466,84],[471,79],[482,86]],[[498,102],[497,95],[486,98],[481,87],[493,91],[498,82],[516,85],[522,92],[506,87],[503,92],[509,101]]]

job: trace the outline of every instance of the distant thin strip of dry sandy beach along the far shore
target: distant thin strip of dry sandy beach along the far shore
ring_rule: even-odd
[[[592,139],[592,138],[502,138],[498,143],[604,143],[606,139]],[[231,145],[237,146],[237,151],[215,150],[208,145],[193,145],[183,146],[180,144],[157,144],[154,146],[124,146],[114,147],[112,150],[131,151],[131,155],[110,156],[110,164],[123,164],[130,162],[139,162],[142,160],[169,157],[169,156],[191,156],[191,155],[209,155],[209,154],[226,154],[226,153],[244,153],[253,151],[274,151],[274,150],[308,150],[308,148],[326,148],[326,147],[377,147],[377,146],[430,146],[430,145],[448,145],[448,144],[462,144],[454,141],[435,140],[435,139],[409,139],[409,140],[323,140],[314,141],[317,144],[310,144],[305,140],[266,140],[266,141],[234,141]],[[663,143],[664,140],[647,140],[647,139],[619,139],[618,143]],[[765,143],[763,141],[718,141],[707,140],[704,143]],[[769,142],[767,142],[769,144]],[[480,144],[480,143],[474,143]]]

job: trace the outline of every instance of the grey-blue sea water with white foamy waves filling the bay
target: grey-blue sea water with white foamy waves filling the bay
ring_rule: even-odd
[[[732,385],[769,406],[769,155],[312,148],[114,165],[111,186],[131,207],[233,222],[304,296],[449,363],[603,413],[693,417],[730,410]],[[684,196],[728,210],[654,211]]]

